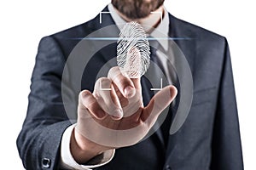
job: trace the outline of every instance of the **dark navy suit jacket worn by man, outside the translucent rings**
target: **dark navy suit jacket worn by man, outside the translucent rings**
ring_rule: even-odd
[[[166,147],[157,135],[152,135],[139,144],[117,150],[113,161],[97,169],[241,170],[241,139],[228,43],[224,37],[169,15],[170,37],[193,37],[193,41],[177,40],[194,80],[189,116]],[[44,37],[39,44],[26,120],[17,139],[27,169],[59,166],[61,135],[71,125],[61,98],[62,71],[79,42],[76,38],[114,24],[110,15],[102,17],[102,24],[98,15],[80,26]],[[106,62],[103,58],[115,53],[108,49],[96,54],[97,60],[84,71],[90,74],[83,78],[82,89],[93,90],[96,73]],[[72,86],[72,82],[67,83],[70,100],[76,107],[79,92],[74,92]]]

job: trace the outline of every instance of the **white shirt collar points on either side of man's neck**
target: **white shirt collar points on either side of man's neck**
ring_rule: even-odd
[[[169,33],[169,14],[166,10],[166,8],[164,8],[164,13],[163,16],[164,18],[161,20],[161,23],[155,28],[154,31],[151,32],[150,37],[155,38],[160,45],[167,51],[168,49],[168,33]],[[127,23],[125,20],[123,20],[119,14],[117,14],[117,12],[115,11],[115,9],[113,8],[113,4],[109,3],[108,4],[108,10],[111,14],[111,17],[113,18],[113,21],[115,22],[115,24],[118,26],[119,30],[122,29],[122,27],[120,26],[121,24],[125,24]],[[164,35],[166,37],[164,37]]]

